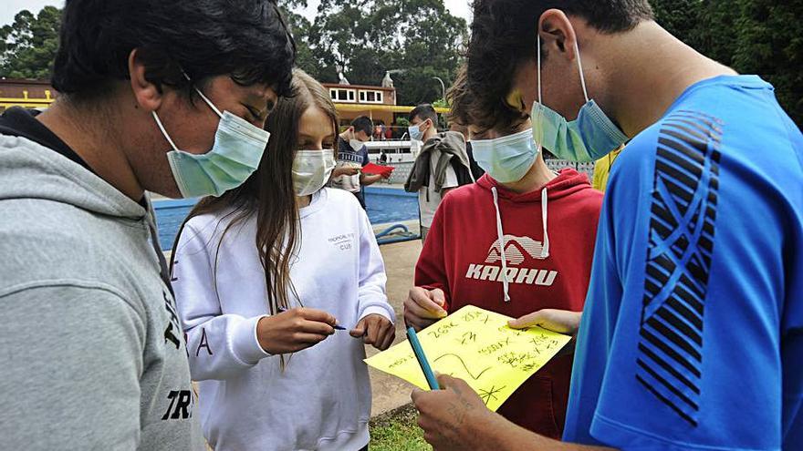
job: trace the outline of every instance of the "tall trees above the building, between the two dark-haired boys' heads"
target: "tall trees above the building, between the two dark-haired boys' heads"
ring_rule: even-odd
[[[309,29],[321,81],[378,85],[394,71],[397,102],[415,105],[442,97],[433,77],[454,79],[467,30],[443,0],[322,0]]]

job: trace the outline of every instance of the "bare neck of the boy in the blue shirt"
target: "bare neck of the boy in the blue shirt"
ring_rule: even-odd
[[[600,41],[610,65],[606,110],[629,137],[658,121],[683,91],[706,78],[736,72],[686,46],[655,22]]]

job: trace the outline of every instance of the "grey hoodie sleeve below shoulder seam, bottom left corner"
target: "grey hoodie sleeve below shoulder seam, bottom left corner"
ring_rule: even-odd
[[[112,289],[78,284],[13,292],[0,302],[3,447],[136,449],[144,313]]]

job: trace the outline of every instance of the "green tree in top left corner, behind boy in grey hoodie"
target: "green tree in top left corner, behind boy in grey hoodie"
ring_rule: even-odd
[[[14,24],[0,28],[0,77],[48,79],[58,48],[61,10],[45,6],[35,16],[27,10]]]

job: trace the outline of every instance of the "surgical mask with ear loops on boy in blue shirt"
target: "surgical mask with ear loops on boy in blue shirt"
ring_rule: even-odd
[[[605,116],[594,100],[589,100],[576,39],[574,49],[577,54],[583,96],[586,98],[586,104],[580,108],[578,118],[568,121],[541,103],[541,36],[538,35],[538,101],[533,104],[530,120],[536,140],[558,159],[594,161],[604,157],[611,150],[618,149],[628,137]]]

